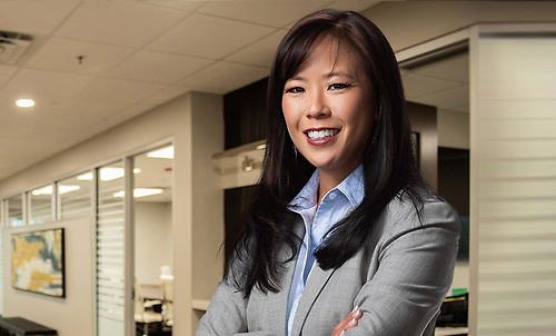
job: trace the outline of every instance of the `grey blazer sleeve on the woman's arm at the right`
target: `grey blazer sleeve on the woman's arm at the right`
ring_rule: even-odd
[[[363,312],[346,336],[420,336],[434,327],[453,279],[460,220],[446,202],[387,209],[377,268],[355,299]]]

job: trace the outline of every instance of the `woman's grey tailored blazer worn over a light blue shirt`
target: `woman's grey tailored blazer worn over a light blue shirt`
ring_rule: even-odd
[[[302,219],[295,225],[302,237]],[[409,197],[396,197],[357,255],[337,269],[315,265],[291,336],[330,335],[356,305],[363,317],[346,336],[431,335],[451,285],[459,233],[459,216],[448,204],[427,197],[417,209]],[[244,298],[222,280],[196,336],[285,336],[295,260],[286,267],[278,293],[254,288]]]

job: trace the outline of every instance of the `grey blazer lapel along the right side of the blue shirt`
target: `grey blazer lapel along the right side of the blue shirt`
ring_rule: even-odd
[[[307,315],[309,314],[312,304],[318,298],[335,270],[336,269],[324,270],[318,266],[318,264],[315,264],[315,267],[307,279],[304,294],[301,294],[301,298],[299,299],[299,305],[297,306],[294,325],[291,326],[291,336],[301,335],[301,328],[307,319]]]

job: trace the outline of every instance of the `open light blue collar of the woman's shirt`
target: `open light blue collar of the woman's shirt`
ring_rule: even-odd
[[[294,197],[294,199],[289,202],[289,208],[291,210],[302,210],[314,207],[317,204],[317,190],[319,181],[320,178],[317,168],[315,169],[315,172],[312,172],[312,176],[309,178],[301,191],[299,191],[299,194],[297,194],[297,196]],[[359,165],[332,190],[341,192],[349,200],[351,206],[354,208],[357,208],[365,197],[365,178],[363,176],[363,166]]]

